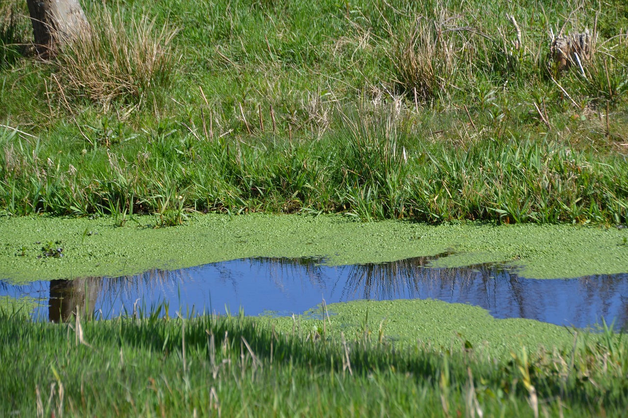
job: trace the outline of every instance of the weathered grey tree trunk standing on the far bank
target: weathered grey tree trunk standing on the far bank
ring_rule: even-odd
[[[37,53],[48,58],[64,40],[85,33],[89,23],[78,0],[26,0]]]

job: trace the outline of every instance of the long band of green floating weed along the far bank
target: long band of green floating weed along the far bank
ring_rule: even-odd
[[[114,227],[112,218],[0,218],[0,277],[13,282],[121,276],[244,257],[323,256],[328,264],[455,254],[435,266],[506,262],[534,278],[628,272],[628,230],[571,225],[456,223],[438,226],[340,215],[198,215],[153,228],[153,217]],[[58,243],[65,257],[41,257]],[[24,254],[24,255],[22,255]]]

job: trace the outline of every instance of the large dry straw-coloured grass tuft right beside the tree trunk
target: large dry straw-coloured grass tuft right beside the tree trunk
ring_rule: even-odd
[[[176,30],[145,15],[131,18],[129,25],[117,7],[95,9],[89,33],[62,45],[55,60],[59,94],[84,97],[105,109],[114,100],[150,107],[176,72]]]

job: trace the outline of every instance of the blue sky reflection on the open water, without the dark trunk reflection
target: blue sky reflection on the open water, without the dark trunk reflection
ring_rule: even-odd
[[[531,318],[560,325],[587,326],[628,321],[628,274],[580,279],[524,279],[499,267],[423,268],[425,259],[387,264],[328,267],[305,260],[245,259],[180,271],[150,271],[104,278],[96,310],[104,318],[149,311],[163,301],[169,314],[203,310],[249,315],[264,311],[303,313],[320,304],[354,299],[440,299],[482,306],[496,318]],[[48,301],[49,282],[12,286],[0,281],[0,296]],[[139,299],[139,300],[138,300]],[[40,308],[42,317],[47,306]]]

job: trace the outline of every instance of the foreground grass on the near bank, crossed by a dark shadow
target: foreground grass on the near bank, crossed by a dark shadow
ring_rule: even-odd
[[[511,360],[465,341],[395,348],[386,333],[283,333],[271,320],[31,323],[1,314],[0,407],[19,416],[537,414],[621,416],[625,338],[578,335]],[[333,321],[333,320],[332,320]],[[364,331],[364,330],[363,330]]]

